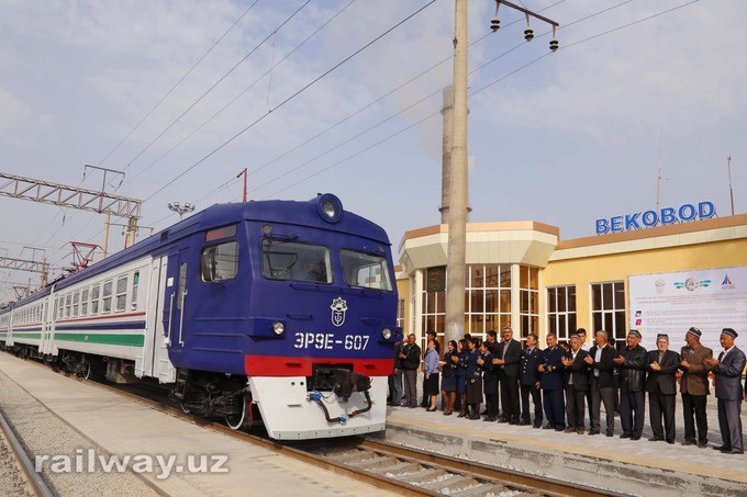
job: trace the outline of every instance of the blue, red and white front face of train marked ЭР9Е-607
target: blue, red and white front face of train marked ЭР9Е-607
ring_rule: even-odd
[[[331,194],[288,208],[247,219],[252,402],[275,439],[383,430],[401,340],[389,239]]]

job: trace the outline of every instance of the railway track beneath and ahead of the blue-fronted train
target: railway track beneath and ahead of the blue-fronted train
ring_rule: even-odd
[[[159,388],[154,385],[116,385],[83,380],[64,371],[58,371],[58,373],[76,377],[77,381],[97,388],[114,392],[193,425],[400,495],[465,497],[618,495],[580,484],[434,454],[370,438],[350,437],[324,441],[278,442],[256,433],[235,431],[223,422],[185,413],[176,403],[158,398]]]

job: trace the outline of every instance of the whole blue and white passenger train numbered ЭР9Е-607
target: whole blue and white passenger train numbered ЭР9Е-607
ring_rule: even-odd
[[[0,309],[0,343],[276,439],[382,430],[389,239],[332,194],[213,205]]]

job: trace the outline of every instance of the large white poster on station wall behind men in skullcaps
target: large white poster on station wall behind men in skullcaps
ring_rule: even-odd
[[[631,328],[642,332],[647,350],[656,349],[658,334],[667,334],[670,349],[679,352],[694,326],[714,355],[723,350],[723,328],[734,328],[736,344],[747,351],[747,267],[632,275],[628,289]]]

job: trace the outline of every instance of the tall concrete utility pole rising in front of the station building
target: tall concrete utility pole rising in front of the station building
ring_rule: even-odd
[[[454,142],[448,205],[446,270],[446,329],[444,340],[465,334],[465,274],[467,250],[467,1],[455,0],[454,22]]]

